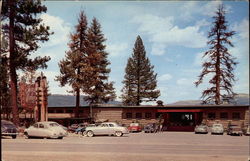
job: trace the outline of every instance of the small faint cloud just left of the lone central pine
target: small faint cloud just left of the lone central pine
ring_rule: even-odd
[[[106,49],[110,56],[113,57],[121,56],[122,54],[128,51],[128,44],[127,43],[108,44]]]

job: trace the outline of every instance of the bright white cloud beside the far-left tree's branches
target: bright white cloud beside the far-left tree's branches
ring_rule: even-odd
[[[47,13],[42,14],[40,18],[43,19],[42,23],[49,26],[50,31],[54,32],[45,45],[54,46],[62,43],[65,43],[66,45],[66,43],[69,41],[68,35],[70,33],[71,25],[60,17],[52,16]]]

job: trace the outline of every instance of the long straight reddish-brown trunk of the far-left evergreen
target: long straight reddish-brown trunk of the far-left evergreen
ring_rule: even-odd
[[[15,39],[14,39],[14,10],[15,1],[9,1],[10,6],[10,29],[9,29],[9,50],[10,50],[10,93],[11,93],[11,105],[12,105],[12,115],[13,115],[13,123],[15,125],[19,125],[18,118],[18,106],[17,106],[17,74],[15,67]]]

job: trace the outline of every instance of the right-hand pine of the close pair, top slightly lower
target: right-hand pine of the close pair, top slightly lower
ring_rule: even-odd
[[[83,69],[82,91],[86,95],[85,100],[91,104],[107,103],[114,100],[113,82],[108,81],[110,62],[107,59],[104,42],[106,39],[101,31],[101,25],[96,18],[92,20],[87,32],[87,65]]]

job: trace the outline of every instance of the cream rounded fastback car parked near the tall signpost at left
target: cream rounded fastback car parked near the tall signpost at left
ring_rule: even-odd
[[[58,123],[53,121],[37,122],[24,130],[26,138],[57,138],[62,139],[68,133]]]

